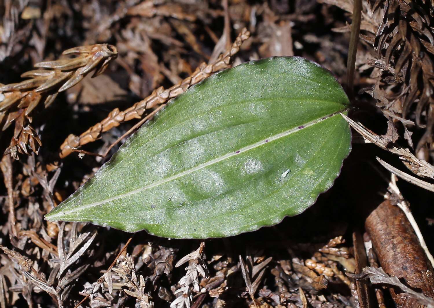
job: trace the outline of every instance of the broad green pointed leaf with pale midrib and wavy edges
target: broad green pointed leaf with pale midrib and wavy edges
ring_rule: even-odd
[[[303,58],[238,65],[174,99],[45,217],[171,238],[277,224],[339,175],[347,104],[332,74]]]

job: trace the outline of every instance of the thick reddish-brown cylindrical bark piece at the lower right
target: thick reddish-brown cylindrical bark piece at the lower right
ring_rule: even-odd
[[[430,297],[434,297],[434,272],[405,214],[386,200],[365,221],[381,267],[391,276]],[[412,306],[413,298],[392,290],[399,306]],[[403,294],[401,294],[403,295]]]

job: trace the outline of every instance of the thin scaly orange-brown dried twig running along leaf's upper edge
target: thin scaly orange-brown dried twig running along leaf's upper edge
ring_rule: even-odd
[[[80,136],[69,135],[60,146],[60,157],[64,158],[73,152],[74,148],[83,146],[86,143],[94,142],[99,138],[101,133],[106,132],[113,127],[119,126],[120,123],[129,121],[132,119],[140,119],[146,109],[155,107],[156,105],[164,104],[171,98],[178,96],[179,94],[187,91],[192,85],[204,80],[211,74],[220,71],[221,69],[228,68],[235,55],[239,50],[241,44],[250,37],[250,32],[247,29],[241,30],[241,33],[233,43],[232,47],[220,55],[215,62],[206,64],[205,62],[199,65],[194,73],[178,82],[174,86],[168,89],[160,87],[154,90],[151,95],[146,97],[143,101],[135,103],[132,107],[124,111],[120,111],[118,108],[112,110],[109,115],[101,122],[90,127]]]

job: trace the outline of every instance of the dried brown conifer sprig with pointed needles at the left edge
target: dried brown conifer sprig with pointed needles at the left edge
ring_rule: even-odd
[[[15,122],[13,138],[5,154],[10,153],[16,158],[18,152],[37,152],[41,140],[29,124],[32,122],[30,113],[35,107],[41,101],[48,107],[59,92],[71,88],[92,70],[95,70],[92,77],[100,75],[118,55],[116,48],[108,44],[81,46],[62,53],[71,54],[76,57],[36,63],[34,66],[38,69],[21,75],[30,79],[0,85],[2,130]]]

